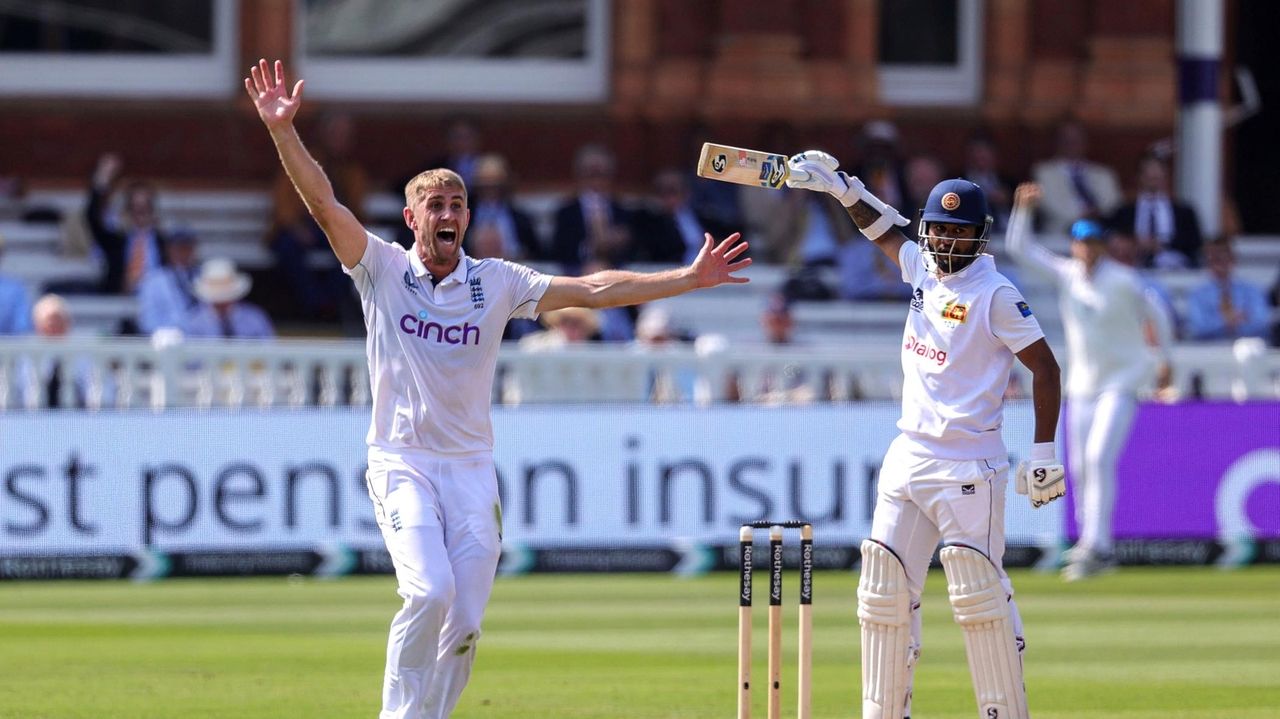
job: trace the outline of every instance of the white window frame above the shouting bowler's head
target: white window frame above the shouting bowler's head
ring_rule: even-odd
[[[586,0],[582,60],[308,58],[302,0],[294,0],[294,64],[310,97],[475,104],[600,104],[609,97],[608,0]]]

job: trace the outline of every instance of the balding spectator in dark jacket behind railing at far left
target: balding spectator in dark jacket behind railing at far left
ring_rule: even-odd
[[[32,307],[36,335],[56,342],[72,331],[72,316],[67,301],[56,294],[46,294]],[[46,356],[38,361],[22,360],[18,366],[22,403],[28,409],[84,408],[110,406],[115,400],[114,383],[106,372],[95,368],[87,357],[70,360],[64,365],[63,354]]]

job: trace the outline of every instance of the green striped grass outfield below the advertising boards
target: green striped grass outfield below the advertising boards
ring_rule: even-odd
[[[499,580],[454,715],[732,716],[736,582]],[[1280,567],[1126,569],[1082,585],[1018,572],[1014,582],[1037,719],[1280,716]],[[960,629],[941,573],[929,585],[915,716],[970,719]],[[815,578],[815,718],[858,715],[854,590],[851,573]],[[0,718],[372,718],[396,606],[390,577],[0,585]],[[763,608],[756,617],[763,638]],[[755,659],[760,678],[763,645]],[[783,700],[794,715],[794,693]]]

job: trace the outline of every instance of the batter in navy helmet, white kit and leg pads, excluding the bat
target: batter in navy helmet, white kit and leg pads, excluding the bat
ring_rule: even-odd
[[[1062,496],[1053,352],[1021,294],[983,253],[991,215],[980,187],[938,183],[920,211],[916,244],[899,229],[908,220],[858,178],[836,171],[831,155],[803,152],[790,165],[787,184],[836,197],[913,288],[902,333],[901,434],[884,455],[872,536],[861,546],[863,719],[911,714],[920,594],[940,539],[978,714],[1027,719],[1025,642],[1004,569],[1009,453],[1000,427],[1016,357],[1033,375],[1036,444],[1015,489],[1034,507]]]

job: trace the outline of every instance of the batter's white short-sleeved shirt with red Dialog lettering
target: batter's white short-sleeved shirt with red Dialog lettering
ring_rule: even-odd
[[[924,267],[914,242],[899,252],[913,298],[902,331],[902,418],[915,454],[986,459],[1000,435],[1014,354],[1044,336],[1021,293],[989,255],[951,275]]]

